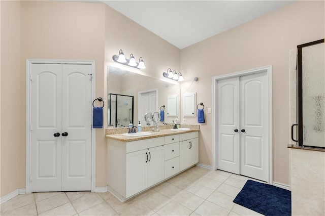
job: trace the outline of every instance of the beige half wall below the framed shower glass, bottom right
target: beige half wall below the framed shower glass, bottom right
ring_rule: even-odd
[[[325,215],[325,152],[290,152],[292,215]]]

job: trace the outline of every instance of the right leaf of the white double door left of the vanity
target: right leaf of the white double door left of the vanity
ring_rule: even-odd
[[[62,190],[91,190],[91,65],[62,67]]]

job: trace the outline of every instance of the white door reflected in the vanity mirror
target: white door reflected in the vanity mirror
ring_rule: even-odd
[[[138,121],[140,121],[142,125],[153,125],[153,122],[147,123],[144,120],[144,115],[147,112],[153,113],[157,111],[157,95],[158,91],[156,89],[139,92]]]

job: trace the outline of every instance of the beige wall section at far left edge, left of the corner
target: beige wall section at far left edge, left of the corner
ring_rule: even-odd
[[[20,2],[1,1],[1,194],[19,188]],[[23,187],[25,188],[25,187]]]

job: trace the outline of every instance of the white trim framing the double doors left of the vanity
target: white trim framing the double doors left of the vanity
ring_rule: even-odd
[[[31,177],[31,137],[30,137],[30,116],[31,116],[31,64],[87,64],[91,65],[92,69],[92,82],[91,82],[91,98],[95,98],[96,93],[96,63],[94,60],[66,60],[66,59],[26,59],[26,193],[30,193]],[[95,191],[95,130],[91,129],[91,191]]]

